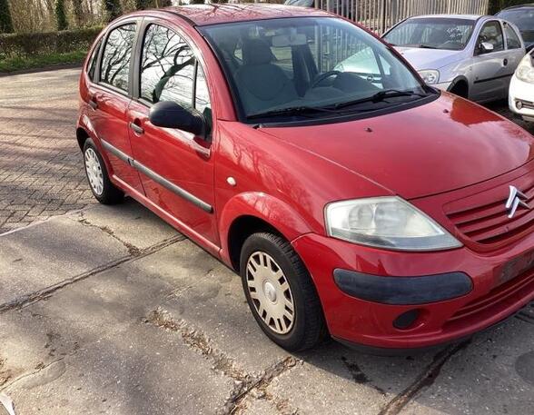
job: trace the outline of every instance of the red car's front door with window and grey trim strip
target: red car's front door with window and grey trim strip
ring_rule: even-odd
[[[218,243],[211,136],[150,123],[153,104],[173,101],[204,115],[211,104],[201,65],[183,36],[151,24],[143,36],[139,99],[129,107],[130,142],[146,196],[196,236]]]

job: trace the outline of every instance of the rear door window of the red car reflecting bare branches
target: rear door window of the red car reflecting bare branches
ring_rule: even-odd
[[[134,39],[135,24],[120,26],[110,32],[102,55],[102,83],[128,91]]]

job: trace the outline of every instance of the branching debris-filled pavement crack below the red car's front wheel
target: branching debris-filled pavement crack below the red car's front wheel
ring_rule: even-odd
[[[285,371],[289,371],[297,363],[302,363],[301,360],[288,356],[282,361],[274,363],[262,371],[261,374],[251,374],[240,368],[236,361],[214,346],[213,341],[202,331],[194,329],[183,319],[174,320],[168,312],[163,311],[161,308],[150,312],[143,322],[178,333],[187,346],[199,352],[205,359],[213,361],[213,371],[223,373],[223,375],[233,380],[233,389],[230,392],[230,396],[219,411],[221,415],[240,413],[245,409],[244,400],[248,396],[252,396],[254,399],[265,398],[271,400],[276,409],[282,414],[296,414],[298,412],[298,410],[292,410],[288,402],[278,400],[266,393],[266,389],[272,383],[272,380]]]

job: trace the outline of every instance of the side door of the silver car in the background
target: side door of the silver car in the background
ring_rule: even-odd
[[[493,44],[493,51],[485,53],[482,43]],[[499,20],[486,22],[480,29],[475,44],[472,71],[474,84],[470,98],[488,101],[504,98],[509,83],[509,55],[504,44],[504,35]]]

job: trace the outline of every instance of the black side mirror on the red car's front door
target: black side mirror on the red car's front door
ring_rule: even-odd
[[[193,114],[173,101],[153,104],[149,119],[156,127],[176,128],[202,136],[206,132],[206,125],[200,114]]]

